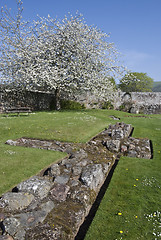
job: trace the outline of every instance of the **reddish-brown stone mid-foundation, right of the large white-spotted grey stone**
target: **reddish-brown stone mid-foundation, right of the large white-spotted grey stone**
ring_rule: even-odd
[[[54,200],[65,201],[70,187],[64,184],[55,184],[50,194]]]

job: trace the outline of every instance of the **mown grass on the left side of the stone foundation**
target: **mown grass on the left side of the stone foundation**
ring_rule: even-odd
[[[107,111],[37,112],[20,117],[0,115],[0,194],[65,156],[64,153],[5,145],[31,137],[86,142],[111,122]]]

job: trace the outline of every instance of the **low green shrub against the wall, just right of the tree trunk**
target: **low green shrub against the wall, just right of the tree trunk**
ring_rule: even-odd
[[[61,100],[60,106],[62,110],[81,110],[85,109],[84,104],[80,104],[79,102],[71,101],[71,100]]]

